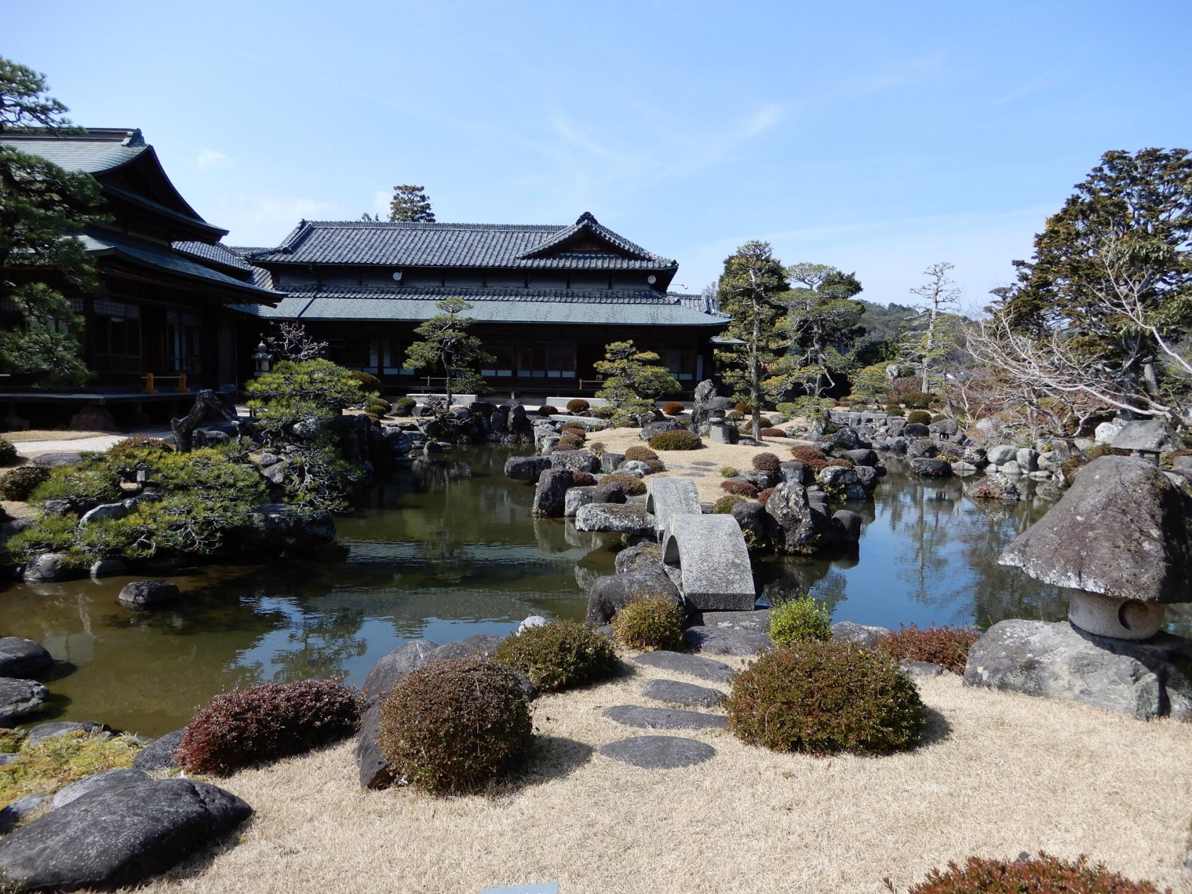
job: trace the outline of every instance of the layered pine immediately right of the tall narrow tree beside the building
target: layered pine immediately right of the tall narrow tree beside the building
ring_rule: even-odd
[[[788,340],[765,383],[772,392],[799,386],[812,397],[836,387],[851,361],[849,347],[864,335],[861,315],[865,305],[855,300],[861,283],[855,273],[842,273],[826,263],[796,263],[787,268],[793,288],[783,297],[788,312],[778,323]]]

